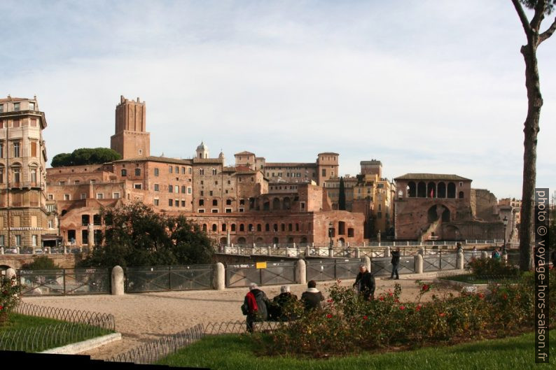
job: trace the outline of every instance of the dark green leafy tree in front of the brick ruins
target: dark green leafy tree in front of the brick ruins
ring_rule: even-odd
[[[104,245],[96,246],[80,266],[113,267],[209,264],[214,246],[199,225],[183,215],[155,213],[142,203],[102,209]]]

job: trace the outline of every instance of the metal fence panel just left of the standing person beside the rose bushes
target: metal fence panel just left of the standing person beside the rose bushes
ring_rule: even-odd
[[[307,259],[307,280],[336,280],[353,278],[359,273],[360,258]]]

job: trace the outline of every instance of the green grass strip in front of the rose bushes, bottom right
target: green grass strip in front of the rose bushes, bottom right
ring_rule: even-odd
[[[550,331],[555,337],[556,330]],[[464,343],[456,346],[430,347],[391,353],[365,353],[328,360],[293,357],[257,357],[257,344],[246,335],[208,336],[165,357],[158,364],[174,367],[225,369],[319,369],[319,370],[432,370],[432,369],[538,369],[534,360],[534,335],[523,334],[506,339]],[[556,358],[554,341],[550,343],[551,362]]]

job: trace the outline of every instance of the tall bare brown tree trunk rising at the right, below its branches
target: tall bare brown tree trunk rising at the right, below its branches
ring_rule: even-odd
[[[535,37],[522,46],[521,53],[525,60],[525,86],[527,87],[527,118],[524,122],[524,154],[523,154],[523,189],[520,225],[520,269],[528,271],[533,268],[531,254],[535,244],[534,235],[534,200],[536,184],[536,143],[538,121],[541,116],[541,85],[538,77]]]

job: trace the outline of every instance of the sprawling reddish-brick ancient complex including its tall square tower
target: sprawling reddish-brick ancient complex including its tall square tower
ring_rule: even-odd
[[[314,164],[285,166],[240,152],[235,166],[225,166],[222,152],[213,158],[208,145],[201,143],[194,158],[153,157],[146,105],[124,97],[116,106],[111,148],[123,159],[46,171],[48,206],[57,213],[66,243],[96,245],[104,229],[100,208],[130,201],[169,215],[186,215],[219,243],[229,238],[240,244],[328,244],[329,228],[334,243],[363,241],[363,214],[333,211],[317,185],[337,178],[337,153],[320,153]],[[274,174],[269,179],[265,172]],[[288,185],[282,176],[291,178]]]

